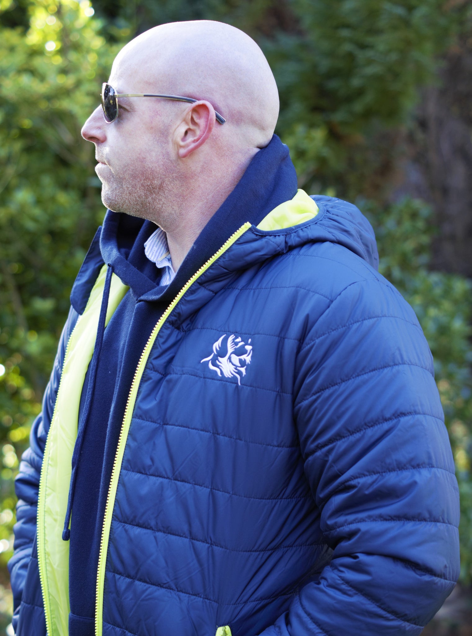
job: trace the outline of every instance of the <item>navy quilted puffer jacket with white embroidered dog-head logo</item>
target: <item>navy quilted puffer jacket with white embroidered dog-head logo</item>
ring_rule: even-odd
[[[106,636],[413,635],[454,587],[458,489],[428,344],[366,219],[314,200],[300,225],[251,226],[159,331],[119,473]],[[67,330],[17,482],[12,587],[33,622]]]

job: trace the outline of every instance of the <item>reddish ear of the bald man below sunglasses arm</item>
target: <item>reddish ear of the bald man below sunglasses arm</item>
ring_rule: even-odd
[[[175,132],[175,142],[181,159],[203,146],[212,134],[215,121],[215,109],[210,102],[201,100],[187,108],[184,119]]]

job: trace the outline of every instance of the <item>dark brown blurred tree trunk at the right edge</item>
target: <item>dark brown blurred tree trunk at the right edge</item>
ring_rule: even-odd
[[[472,277],[472,38],[448,52],[438,75],[415,113],[399,193],[433,205],[431,267]]]

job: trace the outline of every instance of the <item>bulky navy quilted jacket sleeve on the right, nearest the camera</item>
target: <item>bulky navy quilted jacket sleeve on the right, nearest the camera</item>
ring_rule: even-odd
[[[306,329],[294,413],[332,559],[262,633],[421,633],[459,576],[459,493],[431,352],[381,277]]]

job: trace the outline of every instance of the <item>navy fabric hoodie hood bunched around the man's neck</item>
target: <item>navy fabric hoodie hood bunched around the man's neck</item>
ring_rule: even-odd
[[[144,254],[144,242],[156,230],[151,221],[107,211],[100,238],[102,258],[130,286],[137,300],[170,302],[243,223],[257,225],[296,192],[297,175],[288,148],[273,135],[269,145],[253,156],[236,188],[203,228],[169,286],[159,286],[160,273]]]

